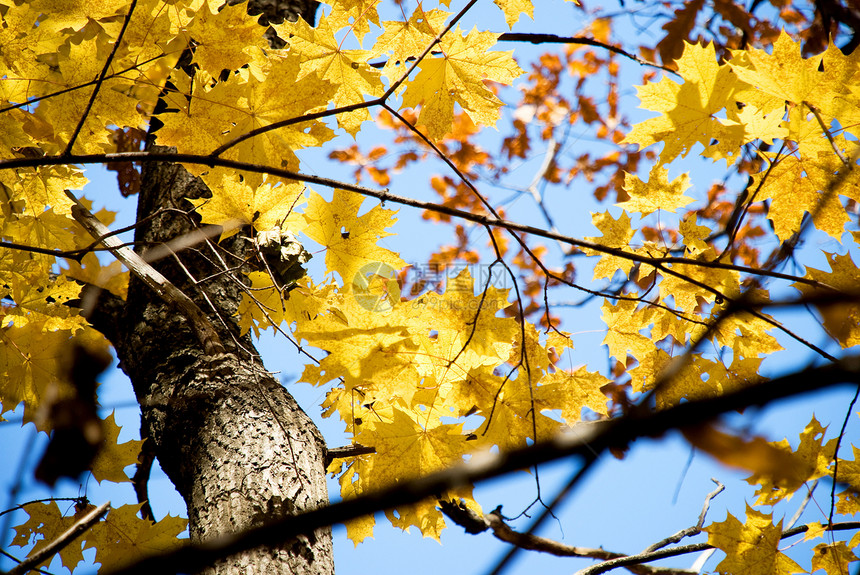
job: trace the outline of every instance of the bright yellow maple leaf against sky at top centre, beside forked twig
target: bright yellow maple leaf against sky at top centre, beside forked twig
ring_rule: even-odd
[[[459,104],[476,124],[495,126],[502,101],[485,80],[510,84],[522,69],[510,52],[491,52],[498,34],[472,30],[463,35],[460,27],[446,34],[439,44],[441,58],[425,58],[420,72],[407,83],[403,105],[421,105],[418,123],[433,139],[451,131],[454,104]]]

